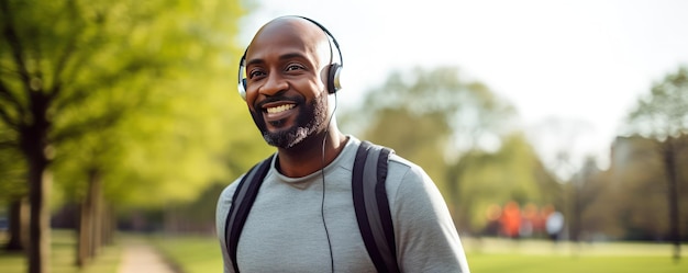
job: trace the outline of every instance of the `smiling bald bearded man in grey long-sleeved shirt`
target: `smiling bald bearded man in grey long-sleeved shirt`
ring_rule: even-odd
[[[277,152],[241,232],[236,264],[225,225],[241,178],[219,198],[217,230],[225,272],[235,266],[242,272],[376,271],[352,201],[360,140],[340,132],[334,118],[336,61],[342,61],[335,49],[336,39],[320,24],[282,16],[264,25],[245,53],[240,90]],[[392,155],[386,189],[399,269],[468,272],[446,204],[425,172]]]

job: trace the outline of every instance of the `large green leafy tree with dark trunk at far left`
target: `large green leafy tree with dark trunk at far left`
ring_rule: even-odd
[[[30,272],[48,266],[49,167],[58,148],[93,128],[115,126],[126,111],[151,99],[145,91],[157,79],[179,77],[180,67],[198,68],[196,58],[203,55],[203,46],[231,46],[241,15],[237,5],[237,1],[164,0],[0,2],[0,121],[16,135],[7,145],[18,147],[26,159]],[[229,29],[213,31],[218,25]],[[226,58],[215,61],[234,64]]]

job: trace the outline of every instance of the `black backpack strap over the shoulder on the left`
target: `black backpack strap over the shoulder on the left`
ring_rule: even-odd
[[[234,191],[232,206],[230,207],[230,213],[228,214],[226,223],[224,224],[224,239],[228,252],[230,253],[230,259],[232,260],[232,266],[234,266],[234,272],[238,272],[238,265],[236,264],[236,246],[238,246],[238,236],[244,228],[251,206],[253,206],[253,202],[256,201],[258,189],[260,189],[260,184],[263,184],[263,180],[265,179],[265,175],[267,175],[267,171],[270,169],[271,161],[273,156],[251,168],[251,170],[246,172],[244,178],[242,178],[238,182],[236,191]]]

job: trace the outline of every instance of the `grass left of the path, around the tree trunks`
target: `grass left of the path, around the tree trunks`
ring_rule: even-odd
[[[75,265],[76,239],[71,230],[52,230],[51,265],[52,273],[115,273],[120,263],[121,247],[106,247],[93,261],[82,270]],[[4,246],[4,235],[0,236],[0,246]],[[26,258],[23,253],[0,250],[0,272],[27,272]]]

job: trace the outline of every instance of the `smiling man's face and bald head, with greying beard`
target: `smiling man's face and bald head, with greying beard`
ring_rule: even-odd
[[[279,148],[291,148],[326,126],[323,39],[329,44],[313,27],[295,19],[274,21],[246,53],[248,110],[265,140]]]

